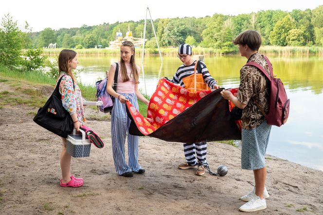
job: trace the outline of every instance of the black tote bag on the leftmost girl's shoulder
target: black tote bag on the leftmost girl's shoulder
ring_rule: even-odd
[[[63,77],[64,76],[57,82],[52,96],[42,108],[39,108],[34,117],[34,122],[48,131],[66,138],[68,135],[72,134],[74,125],[70,113],[63,107],[61,100],[62,95],[58,91],[59,84]]]

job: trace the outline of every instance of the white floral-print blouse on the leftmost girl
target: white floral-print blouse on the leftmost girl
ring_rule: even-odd
[[[58,80],[63,75],[67,75],[67,73],[61,72]],[[59,93],[62,95],[61,99],[62,99],[63,107],[67,110],[67,112],[69,112],[70,115],[72,115],[73,113],[76,113],[77,119],[80,122],[85,121],[84,107],[83,107],[84,99],[82,98],[81,90],[76,82],[74,82],[74,86],[73,86],[73,79],[71,76],[67,75],[62,78],[59,84]]]

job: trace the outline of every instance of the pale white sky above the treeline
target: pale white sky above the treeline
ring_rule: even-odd
[[[199,18],[215,13],[238,15],[269,9],[312,10],[319,5],[323,5],[323,0],[0,0],[0,17],[9,13],[21,29],[27,21],[32,31],[37,32],[48,27],[58,30],[84,24],[144,20],[147,7],[151,18],[156,20]],[[149,13],[147,17],[150,18]]]

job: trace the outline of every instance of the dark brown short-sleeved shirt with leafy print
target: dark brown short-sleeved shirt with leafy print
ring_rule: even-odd
[[[265,57],[259,53],[251,55],[248,62],[257,62],[269,72],[268,63]],[[244,66],[240,70],[240,85],[237,99],[247,106],[243,109],[241,125],[243,129],[253,129],[265,121],[265,116],[256,106],[259,106],[268,112],[269,102],[269,80],[265,75],[254,66]]]

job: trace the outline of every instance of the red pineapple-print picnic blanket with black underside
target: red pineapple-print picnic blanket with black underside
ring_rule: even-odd
[[[150,98],[147,117],[126,103],[129,134],[184,143],[241,139],[241,122],[230,117],[233,103],[222,98],[223,89],[194,93],[162,78]]]

